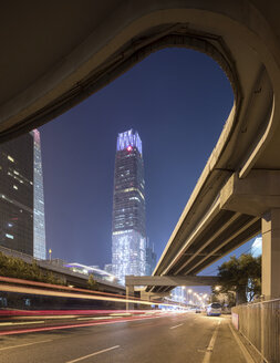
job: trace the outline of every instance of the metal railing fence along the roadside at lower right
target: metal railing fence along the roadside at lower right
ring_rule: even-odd
[[[260,362],[280,363],[280,299],[235,307],[232,319]]]

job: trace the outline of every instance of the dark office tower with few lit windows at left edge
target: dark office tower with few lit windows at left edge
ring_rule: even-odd
[[[33,256],[33,135],[0,145],[0,246]]]

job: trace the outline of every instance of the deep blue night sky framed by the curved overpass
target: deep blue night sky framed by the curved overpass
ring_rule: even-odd
[[[215,61],[166,49],[41,127],[53,258],[111,263],[116,137],[129,128],[143,142],[147,235],[159,258],[232,104],[230,84]],[[215,267],[205,273],[214,274]]]

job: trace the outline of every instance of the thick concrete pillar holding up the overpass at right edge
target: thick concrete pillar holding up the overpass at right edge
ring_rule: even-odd
[[[280,209],[262,216],[261,293],[266,299],[280,298]]]

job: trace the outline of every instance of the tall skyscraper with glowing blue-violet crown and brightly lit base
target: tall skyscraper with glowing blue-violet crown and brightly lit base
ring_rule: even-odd
[[[113,274],[121,283],[126,274],[145,274],[144,164],[142,141],[133,129],[117,137],[112,229]]]

